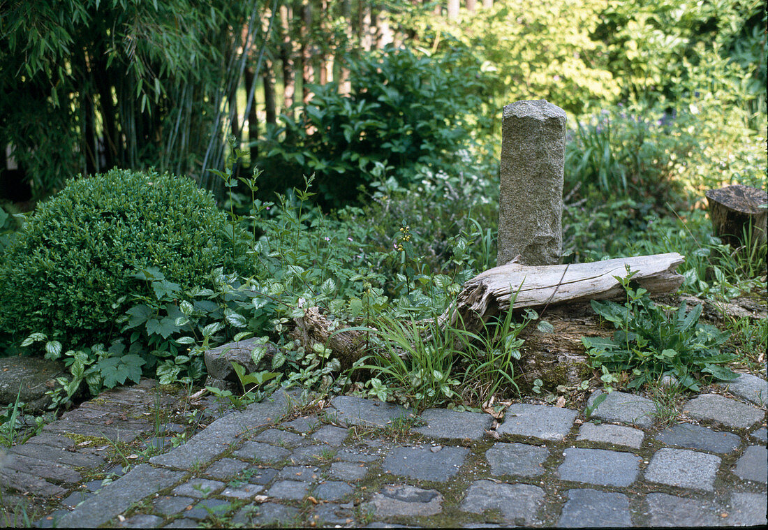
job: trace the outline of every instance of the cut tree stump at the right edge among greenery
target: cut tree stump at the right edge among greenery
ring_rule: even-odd
[[[749,244],[744,240],[744,230],[752,232],[752,244],[766,242],[768,221],[768,194],[756,187],[734,184],[705,194],[710,207],[710,219],[717,237],[731,247]]]

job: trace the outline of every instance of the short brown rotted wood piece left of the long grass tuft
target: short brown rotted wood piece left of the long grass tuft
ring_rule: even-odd
[[[339,359],[342,370],[350,368],[365,354],[366,333],[343,330],[346,327],[345,324],[334,326],[334,323],[320,314],[317,307],[308,308],[304,316],[294,318],[293,322],[296,323],[296,328],[292,332],[294,339],[300,340],[306,349],[312,348],[316,343],[332,349],[333,356]]]

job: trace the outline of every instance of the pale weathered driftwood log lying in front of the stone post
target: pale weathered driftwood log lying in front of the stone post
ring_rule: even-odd
[[[624,289],[615,277],[625,277],[627,265],[635,272],[633,279],[649,293],[670,293],[683,283],[675,272],[683,260],[678,253],[666,253],[540,267],[507,263],[466,281],[457,303],[440,320],[455,324],[461,317],[465,327],[475,327],[478,319],[508,310],[515,294],[512,309],[620,298]]]

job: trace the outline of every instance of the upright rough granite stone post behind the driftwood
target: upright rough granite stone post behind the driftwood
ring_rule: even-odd
[[[504,108],[497,265],[559,263],[565,111],[546,100]]]

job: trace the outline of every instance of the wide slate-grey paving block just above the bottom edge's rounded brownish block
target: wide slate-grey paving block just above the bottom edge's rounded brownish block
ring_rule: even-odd
[[[396,447],[384,459],[382,470],[416,480],[445,482],[458,473],[468,453],[466,447],[444,447],[440,452],[426,447]]]

